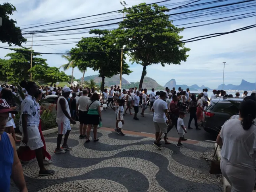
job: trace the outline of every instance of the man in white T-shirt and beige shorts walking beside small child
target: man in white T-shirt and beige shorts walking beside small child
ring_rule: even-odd
[[[164,101],[166,98],[165,92],[160,92],[159,99],[156,100],[153,104],[152,111],[154,112],[153,121],[154,127],[156,130],[156,141],[153,143],[158,149],[161,150],[162,144],[160,144],[160,140],[162,139],[162,134],[164,134],[164,141],[166,144],[170,144],[166,137],[167,137],[167,123],[166,117],[169,122],[171,122],[167,103]]]

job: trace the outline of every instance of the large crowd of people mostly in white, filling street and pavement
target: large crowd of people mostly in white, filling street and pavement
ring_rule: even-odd
[[[20,162],[27,163],[31,159],[36,158],[40,168],[38,175],[46,176],[55,173],[54,170],[47,170],[44,167],[44,165],[51,163],[51,156],[46,151],[40,120],[40,115],[45,108],[40,106],[38,102],[47,95],[55,94],[58,96],[56,102],[58,136],[56,149],[54,150],[54,153],[58,154],[64,154],[67,150],[72,149],[68,146],[67,141],[71,132],[71,124],[76,124],[76,121],[79,121],[79,138],[85,139],[86,143],[90,142],[90,140],[97,142],[99,140],[97,137],[97,128],[101,127],[102,123],[101,111],[103,109],[107,110],[108,104],[112,101],[114,101],[116,119],[115,131],[118,135],[124,135],[122,127],[127,111],[129,111],[130,115],[133,115],[131,113],[131,109],[133,108],[133,119],[138,121],[139,106],[142,108],[141,116],[146,117],[144,111],[149,105],[150,111],[153,113],[153,122],[156,131],[156,140],[153,144],[161,150],[162,144],[160,140],[164,139],[165,144],[170,144],[167,140],[167,133],[173,127],[176,128],[179,135],[176,146],[183,147],[182,141],[187,140],[184,134],[187,133],[187,129],[192,129],[192,119],[194,119],[195,128],[200,130],[198,125],[202,125],[204,111],[208,107],[209,102],[212,104],[216,98],[233,97],[227,95],[224,90],[213,90],[212,96],[208,98],[207,89],[204,89],[196,97],[195,94],[190,93],[189,88],[183,91],[180,87],[177,91],[174,87],[171,90],[166,87],[166,90],[157,91],[156,93],[153,88],[148,95],[146,88],[137,90],[135,87],[129,90],[121,90],[119,86],[112,86],[110,90],[105,89],[102,95],[100,95],[94,92],[93,89],[79,86],[56,87],[54,85],[53,88],[48,86],[38,87],[35,82],[31,81],[21,81],[19,86],[22,88],[25,98],[22,98],[21,94],[17,91],[19,87],[1,86],[0,89],[0,153],[1,155],[8,154],[8,156],[3,156],[5,159],[1,161],[0,167],[5,170],[5,177],[1,179],[6,182],[4,186],[7,189],[6,191],[10,188],[9,176],[11,175],[19,189],[24,192],[27,191]],[[233,160],[233,157],[237,156],[240,152],[239,150],[241,150],[243,156],[251,158],[252,150],[255,148],[252,145],[252,141],[255,140],[256,107],[252,109],[251,106],[256,106],[256,97],[253,94],[247,97],[247,94],[248,92],[244,92],[242,96],[244,102],[242,102],[239,108],[239,115],[231,117],[234,120],[230,120],[223,125],[217,138],[217,143],[223,147],[221,169],[223,169],[223,175],[225,177],[229,177],[229,174],[232,174],[234,170],[241,171],[241,173],[245,173],[244,171],[247,170],[246,173],[253,174],[250,172],[252,171],[251,159],[244,160],[243,158],[238,158],[238,160]],[[15,118],[15,114],[18,113],[18,109],[15,106],[13,96],[21,101],[19,109],[21,114],[19,119],[19,130],[22,132],[21,141],[15,137],[15,123],[13,119]],[[236,97],[239,97],[239,94],[236,94]],[[185,126],[183,121],[187,113],[190,113],[188,127]],[[234,127],[237,129],[235,132],[241,132],[241,134],[234,135],[234,138],[236,137],[237,140],[241,140],[239,143],[233,143],[234,140],[232,141],[231,138]],[[93,129],[93,138],[90,137],[91,129]],[[61,145],[63,136],[64,142]],[[20,143],[17,151],[15,143]],[[233,148],[232,146],[236,146],[236,148],[230,150],[230,148]],[[250,189],[251,187],[248,183],[237,185],[237,178],[231,177],[229,181],[235,188],[246,186]]]

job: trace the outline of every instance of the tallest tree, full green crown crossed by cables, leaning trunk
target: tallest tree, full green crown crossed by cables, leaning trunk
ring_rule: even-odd
[[[139,4],[133,9],[125,9],[126,19],[119,23],[119,29],[112,31],[112,34],[118,36],[120,44],[125,48],[150,47],[159,44],[166,44],[180,41],[183,36],[179,33],[183,28],[175,27],[169,16],[164,12],[167,10],[164,6],[152,4],[148,6],[145,3]],[[142,15],[141,15],[142,14]],[[186,61],[189,55],[186,55],[190,49],[184,47],[185,43],[158,46],[152,48],[137,49],[128,52],[130,61],[143,66],[139,89],[142,87],[143,79],[146,75],[146,67],[152,64],[159,64],[164,67],[165,64],[181,64]]]

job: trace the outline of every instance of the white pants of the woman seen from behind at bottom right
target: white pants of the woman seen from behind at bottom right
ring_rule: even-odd
[[[255,184],[254,169],[234,166],[223,157],[221,157],[220,169],[231,184],[231,192],[252,192]]]

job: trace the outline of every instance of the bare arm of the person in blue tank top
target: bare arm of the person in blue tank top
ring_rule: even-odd
[[[13,147],[12,180],[21,192],[27,192],[28,190],[26,187],[22,166],[16,151],[15,141],[10,134],[8,134],[8,136]]]

